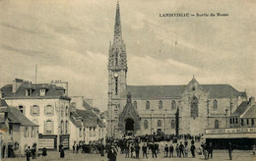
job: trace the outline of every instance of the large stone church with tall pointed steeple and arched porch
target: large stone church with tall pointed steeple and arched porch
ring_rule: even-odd
[[[187,84],[129,85],[126,57],[117,3],[107,66],[107,136],[205,134],[228,127],[227,118],[247,100],[245,91],[230,84],[200,84],[195,78]]]

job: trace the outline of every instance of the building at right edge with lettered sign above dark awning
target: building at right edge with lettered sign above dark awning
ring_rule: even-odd
[[[243,101],[239,107],[225,119],[226,128],[206,129],[206,140],[214,142],[217,148],[225,148],[229,141],[236,148],[251,149],[256,145],[256,103],[254,97]]]

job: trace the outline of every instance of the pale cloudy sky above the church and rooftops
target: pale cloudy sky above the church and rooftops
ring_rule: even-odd
[[[1,0],[0,86],[69,82],[70,96],[107,107],[115,0]],[[228,83],[256,96],[253,0],[120,0],[128,84]],[[164,13],[228,17],[160,17]]]

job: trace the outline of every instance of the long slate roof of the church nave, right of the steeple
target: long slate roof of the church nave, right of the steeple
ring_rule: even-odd
[[[179,98],[187,85],[127,85],[126,90],[131,92],[133,98],[139,99],[159,99],[159,98]],[[245,96],[229,84],[202,84],[203,88],[210,93],[211,98],[229,98],[234,96]],[[126,94],[122,94],[125,98]]]

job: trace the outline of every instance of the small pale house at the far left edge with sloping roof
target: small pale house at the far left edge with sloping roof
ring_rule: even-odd
[[[38,125],[33,124],[17,108],[0,99],[1,156],[25,155],[28,146],[37,149]]]

